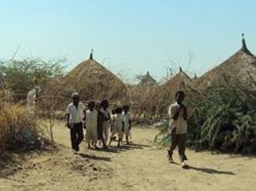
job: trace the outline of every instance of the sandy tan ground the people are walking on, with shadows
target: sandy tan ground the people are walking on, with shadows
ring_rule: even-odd
[[[33,154],[0,178],[0,190],[255,190],[255,157],[187,150],[190,168],[183,170],[152,146],[156,133],[135,127],[129,146],[116,148],[113,142],[108,150],[87,150],[83,142],[74,155],[69,131],[58,122],[54,135],[60,150]]]

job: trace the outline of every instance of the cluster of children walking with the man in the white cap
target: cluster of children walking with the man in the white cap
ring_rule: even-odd
[[[129,143],[132,123],[128,105],[116,107],[110,111],[106,99],[99,103],[89,101],[87,107],[80,101],[78,93],[73,93],[72,99],[73,102],[69,103],[66,113],[74,153],[80,150],[79,145],[84,139],[84,129],[85,142],[89,149],[92,147],[96,149],[97,145],[106,148],[107,144],[111,145],[116,137],[118,138],[117,146],[120,146],[124,137],[127,144]]]

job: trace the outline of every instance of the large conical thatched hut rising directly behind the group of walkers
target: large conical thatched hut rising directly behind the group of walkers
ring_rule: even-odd
[[[109,99],[124,102],[128,97],[126,85],[93,59],[93,50],[88,60],[78,64],[60,80],[50,83],[46,92],[62,97],[70,97],[72,92],[79,92],[83,100]]]

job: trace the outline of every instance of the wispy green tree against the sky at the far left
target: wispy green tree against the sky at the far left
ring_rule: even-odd
[[[0,62],[0,73],[4,73],[7,88],[15,93],[15,100],[26,99],[26,93],[34,86],[45,87],[53,78],[63,76],[65,59],[41,60],[26,58]]]

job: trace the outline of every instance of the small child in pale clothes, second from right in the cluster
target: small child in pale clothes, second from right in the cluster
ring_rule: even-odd
[[[116,107],[116,120],[115,120],[115,123],[113,123],[112,134],[110,136],[108,145],[111,145],[115,134],[118,134],[117,146],[120,146],[120,142],[124,135],[124,115],[122,115],[122,112],[123,112],[122,107]]]

